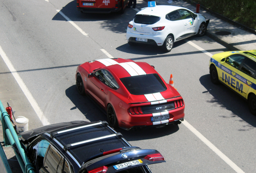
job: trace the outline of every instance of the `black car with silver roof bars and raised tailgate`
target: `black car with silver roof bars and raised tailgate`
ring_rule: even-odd
[[[131,146],[105,121],[72,121],[20,134],[38,173],[151,173],[165,162],[154,149]]]

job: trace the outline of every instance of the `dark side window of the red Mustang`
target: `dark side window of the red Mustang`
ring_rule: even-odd
[[[112,89],[118,89],[119,86],[110,72],[107,70],[98,70],[95,72],[95,76],[101,80],[104,84]]]

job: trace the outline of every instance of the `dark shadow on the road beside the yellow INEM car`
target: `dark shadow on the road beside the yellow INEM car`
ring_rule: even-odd
[[[220,118],[227,119],[238,116],[251,126],[256,127],[256,116],[250,113],[248,103],[245,99],[231,91],[231,89],[227,88],[224,84],[213,84],[210,79],[210,74],[200,77],[199,81],[206,88],[207,91],[205,92],[210,93],[214,97],[209,101],[210,103],[219,104],[221,107],[233,113],[233,115],[218,115]],[[250,127],[245,129],[249,130]],[[245,129],[239,129],[239,131],[245,131]]]

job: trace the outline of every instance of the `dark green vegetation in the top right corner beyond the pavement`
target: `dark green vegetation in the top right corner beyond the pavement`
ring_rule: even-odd
[[[256,0],[194,0],[231,20],[256,30]]]

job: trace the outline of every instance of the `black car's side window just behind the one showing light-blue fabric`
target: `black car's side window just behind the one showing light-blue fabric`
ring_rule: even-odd
[[[52,146],[50,145],[50,148],[47,152],[47,155],[45,157],[44,167],[45,169],[50,173],[56,173],[56,170],[59,167],[59,164],[62,162],[63,164],[63,158],[60,155],[60,153]],[[62,165],[60,166],[60,170],[62,170]],[[59,169],[58,169],[59,172]],[[61,171],[60,171],[61,172]]]

